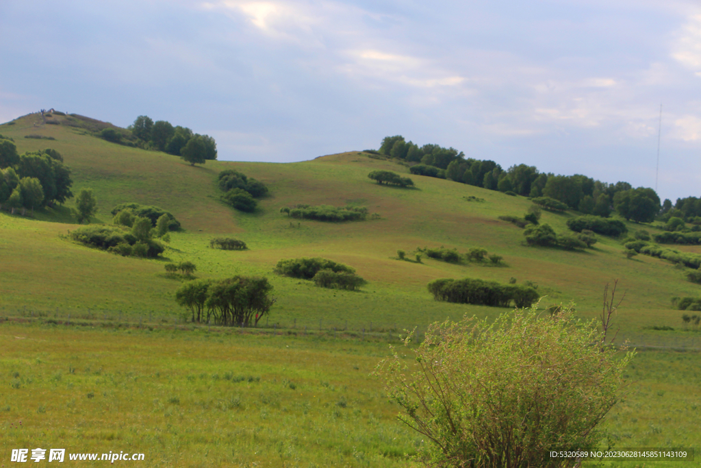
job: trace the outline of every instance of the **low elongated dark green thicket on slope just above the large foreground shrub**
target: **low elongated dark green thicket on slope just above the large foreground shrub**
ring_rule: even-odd
[[[428,283],[428,292],[435,300],[458,304],[509,307],[531,307],[538,300],[538,292],[531,286],[499,284],[481,279],[437,279]]]

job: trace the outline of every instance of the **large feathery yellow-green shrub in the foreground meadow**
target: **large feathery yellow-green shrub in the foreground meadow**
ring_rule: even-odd
[[[463,319],[433,324],[418,347],[404,340],[403,359],[382,361],[376,374],[422,434],[435,467],[555,467],[548,450],[594,447],[597,429],[618,402],[634,353],[606,346],[593,322],[573,307],[552,316],[537,307],[502,314],[494,323]]]

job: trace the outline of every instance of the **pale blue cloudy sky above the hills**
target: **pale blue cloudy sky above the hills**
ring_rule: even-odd
[[[0,44],[0,122],[147,115],[229,161],[403,135],[701,196],[698,1],[2,0]]]

